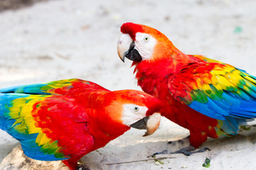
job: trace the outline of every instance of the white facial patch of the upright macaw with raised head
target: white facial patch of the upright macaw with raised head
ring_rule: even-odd
[[[156,39],[146,33],[136,33],[135,49],[138,50],[139,55],[142,56],[142,60],[150,59],[154,46],[156,45]]]

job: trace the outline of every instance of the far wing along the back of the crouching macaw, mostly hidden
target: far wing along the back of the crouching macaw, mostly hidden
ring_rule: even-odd
[[[78,91],[93,91],[95,89],[108,91],[102,86],[91,81],[81,79],[64,79],[50,81],[46,84],[29,84],[7,87],[0,89],[0,93],[67,95],[77,93]]]

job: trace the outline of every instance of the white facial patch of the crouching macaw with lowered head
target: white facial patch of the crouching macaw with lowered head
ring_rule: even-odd
[[[122,120],[124,125],[132,125],[138,120],[141,120],[146,116],[148,108],[146,106],[137,106],[134,104],[124,104],[124,110],[122,114]]]

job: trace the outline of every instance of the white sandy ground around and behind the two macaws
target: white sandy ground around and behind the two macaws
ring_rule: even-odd
[[[122,23],[132,21],[165,33],[180,50],[233,64],[256,75],[256,1],[48,1],[0,13],[0,87],[80,78],[110,90],[139,89],[128,60],[117,56]],[[256,129],[235,137],[209,139],[210,152],[133,162],[166,149],[188,135],[162,119],[154,135],[129,130],[83,157],[90,169],[255,169]],[[23,156],[18,142],[0,131],[0,169],[66,169],[61,162]],[[14,148],[14,149],[13,149]],[[12,150],[13,149],[13,150]],[[114,164],[119,162],[133,162]]]

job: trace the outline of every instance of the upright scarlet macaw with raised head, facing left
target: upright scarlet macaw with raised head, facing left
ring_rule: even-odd
[[[117,52],[132,60],[138,85],[164,103],[164,115],[190,132],[198,148],[207,137],[237,135],[256,118],[256,77],[230,64],[186,55],[163,33],[124,23]]]

